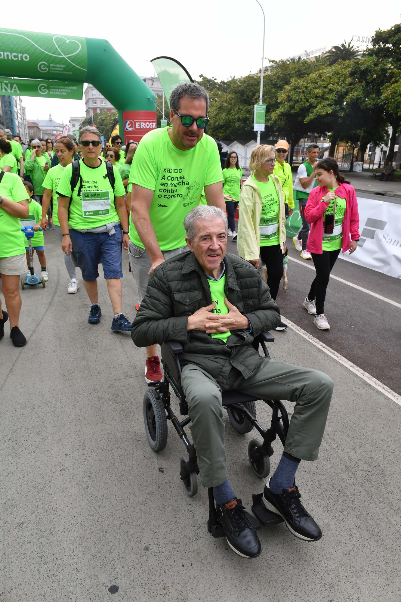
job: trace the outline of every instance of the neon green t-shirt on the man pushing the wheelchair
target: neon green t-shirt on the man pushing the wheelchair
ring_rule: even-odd
[[[199,204],[202,188],[223,179],[219,149],[204,134],[188,151],[180,151],[168,128],[154,129],[140,141],[132,160],[129,182],[153,190],[149,211],[157,241],[163,251],[185,245],[184,218]],[[131,217],[129,238],[144,249]]]

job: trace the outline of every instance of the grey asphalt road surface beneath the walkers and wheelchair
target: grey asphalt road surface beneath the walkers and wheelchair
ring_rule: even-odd
[[[280,524],[260,532],[258,559],[240,559],[207,532],[207,491],[199,486],[194,498],[182,491],[184,447],[175,431],[169,427],[159,454],[146,441],[145,355],[129,334],[111,332],[105,282],[101,323],[90,325],[82,286],[66,293],[57,234],[47,232],[45,244],[49,282],[22,291],[28,344],[13,347],[7,329],[0,342],[0,602],[399,602],[401,406],[295,330],[276,333],[273,357],[335,382],[319,461],[302,462],[297,473],[323,538],[306,544]],[[290,256],[297,258],[291,246]],[[124,273],[123,311],[132,318],[126,255]],[[334,273],[399,300],[399,282],[387,276],[340,260]],[[312,276],[289,262],[289,289],[278,297],[283,315],[396,390],[393,306],[332,281],[332,329],[320,333],[300,307]],[[172,404],[178,411],[175,397]],[[258,418],[269,424],[261,403]],[[256,435],[238,435],[226,422],[229,477],[249,509],[264,485],[247,460]],[[273,447],[272,471],[281,456],[281,445]]]

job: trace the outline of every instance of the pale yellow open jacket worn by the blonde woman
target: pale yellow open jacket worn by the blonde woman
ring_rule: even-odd
[[[284,243],[287,234],[285,233],[285,207],[282,187],[279,178],[275,175],[272,178],[279,197],[280,211],[279,222],[279,241],[282,253],[284,253]],[[259,259],[260,255],[260,219],[262,215],[262,197],[258,186],[253,182],[252,175],[244,182],[240,193],[240,206],[238,210],[238,239],[237,249],[240,257],[249,261],[250,259]]]

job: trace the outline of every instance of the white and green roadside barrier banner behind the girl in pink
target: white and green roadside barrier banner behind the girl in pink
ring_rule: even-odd
[[[340,253],[339,257],[401,278],[401,205],[358,196],[358,211],[361,235],[358,247],[352,255]],[[299,211],[294,209],[287,220],[287,236],[295,236],[301,225]]]

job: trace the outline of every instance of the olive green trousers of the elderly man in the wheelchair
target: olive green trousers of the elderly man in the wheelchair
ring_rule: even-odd
[[[228,478],[222,388],[210,374],[193,364],[182,368],[181,385],[187,398],[201,483],[204,487],[215,487]],[[333,387],[333,381],[323,372],[263,358],[260,368],[248,379],[232,368],[223,390],[294,402],[284,451],[312,461],[319,455]]]

